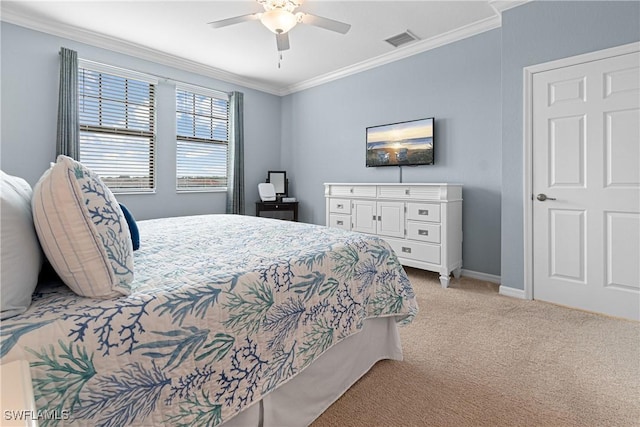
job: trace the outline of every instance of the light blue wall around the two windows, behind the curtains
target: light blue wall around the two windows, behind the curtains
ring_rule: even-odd
[[[255,212],[257,185],[269,169],[280,169],[280,104],[278,96],[177,70],[113,51],[99,49],[2,22],[2,128],[0,164],[6,173],[31,185],[55,157],[58,99],[58,51],[78,51],[83,59],[168,77],[222,91],[244,93],[247,214]],[[224,213],[225,193],[175,191],[174,84],[161,80],[157,97],[157,192],[118,195],[137,219]]]

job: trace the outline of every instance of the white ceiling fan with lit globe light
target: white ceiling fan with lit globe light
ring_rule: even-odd
[[[326,30],[346,34],[351,28],[350,24],[334,21],[333,19],[311,15],[304,12],[294,13],[295,9],[302,4],[302,0],[256,0],[264,7],[264,12],[241,15],[233,18],[221,19],[209,22],[212,28],[226,27],[227,25],[239,24],[245,21],[260,21],[276,35],[278,51],[289,49],[289,30],[296,24],[308,24]]]

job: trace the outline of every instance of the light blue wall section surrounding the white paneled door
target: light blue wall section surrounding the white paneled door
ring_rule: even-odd
[[[535,1],[503,14],[503,285],[524,288],[523,68],[638,40],[637,1]]]

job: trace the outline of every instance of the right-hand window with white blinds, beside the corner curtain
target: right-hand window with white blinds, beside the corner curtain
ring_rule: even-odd
[[[227,94],[176,88],[176,188],[202,191],[227,186],[229,99]]]

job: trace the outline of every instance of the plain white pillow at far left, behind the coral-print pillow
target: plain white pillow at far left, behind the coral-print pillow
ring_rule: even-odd
[[[31,216],[31,186],[0,171],[0,319],[24,313],[38,283],[42,252]]]

